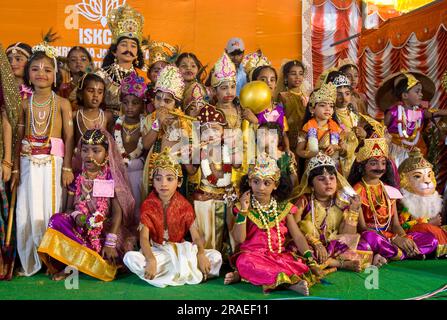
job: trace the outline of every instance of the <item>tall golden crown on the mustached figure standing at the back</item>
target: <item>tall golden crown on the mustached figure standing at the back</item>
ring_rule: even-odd
[[[143,39],[144,17],[141,13],[124,4],[109,12],[107,24],[112,31],[112,43],[116,44],[121,37],[138,40]]]

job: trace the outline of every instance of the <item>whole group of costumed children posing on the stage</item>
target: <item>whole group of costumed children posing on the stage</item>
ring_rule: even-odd
[[[43,262],[54,280],[69,265],[165,287],[218,277],[224,263],[225,284],[308,295],[337,269],[446,256],[422,135],[447,111],[422,107],[434,93],[427,77],[401,72],[379,88],[386,129],[367,114],[355,64],[323,74],[307,96],[300,61],[278,76],[255,52],[242,61],[247,81],[272,97],[255,112],[239,103],[226,52],[206,86],[196,55],[153,42],[149,81],[134,63],[138,35],[118,31],[115,62],[97,71],[82,47],[62,66],[51,34],[6,50],[23,100],[15,116],[2,103],[2,190],[17,192],[20,274]]]

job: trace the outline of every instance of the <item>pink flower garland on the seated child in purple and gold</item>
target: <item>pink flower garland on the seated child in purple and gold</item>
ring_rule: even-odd
[[[107,168],[104,172],[98,174],[96,179],[98,180],[106,180],[107,176],[109,176],[109,169]],[[85,176],[85,172],[80,174],[76,180],[76,198],[79,199],[75,205],[74,217],[82,214],[85,216],[85,227],[87,228],[87,239],[90,243],[93,250],[96,252],[100,252],[102,249],[100,235],[104,228],[104,220],[109,213],[109,201],[108,198],[105,197],[96,197],[96,211],[90,213],[87,202],[91,201],[90,193],[93,191],[93,187],[91,189],[86,188],[86,184],[91,180]],[[82,191],[87,193],[86,195],[82,194]]]

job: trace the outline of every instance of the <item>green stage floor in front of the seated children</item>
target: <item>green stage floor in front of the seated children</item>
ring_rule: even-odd
[[[248,283],[224,286],[223,277],[200,285],[159,289],[133,274],[120,275],[112,282],[102,282],[86,275],[79,278],[79,288],[67,290],[64,281],[55,282],[44,273],[33,277],[15,277],[0,282],[0,300],[244,300],[244,299],[335,299],[396,300],[408,299],[435,291],[447,284],[447,260],[392,262],[379,270],[378,289],[365,288],[371,274],[338,271],[313,286],[310,297],[289,290],[264,294]],[[447,292],[433,300],[447,300]]]

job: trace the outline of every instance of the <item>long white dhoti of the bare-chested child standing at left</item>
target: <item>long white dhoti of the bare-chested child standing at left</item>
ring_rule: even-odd
[[[48,221],[62,211],[63,158],[52,155],[22,156],[17,190],[17,252],[23,273],[31,276],[42,266],[37,254]]]

